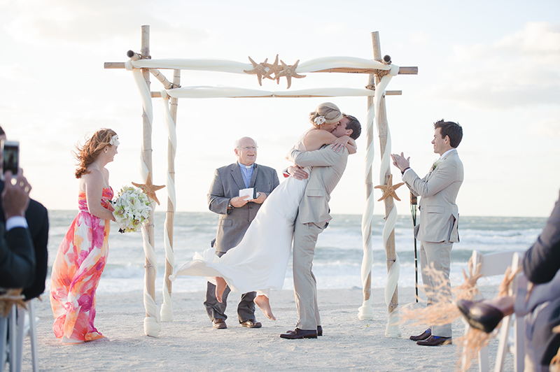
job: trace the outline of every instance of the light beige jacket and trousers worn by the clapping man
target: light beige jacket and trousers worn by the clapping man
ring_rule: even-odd
[[[414,227],[414,236],[421,242],[422,282],[426,287],[428,305],[442,300],[451,301],[451,248],[453,243],[459,241],[459,213],[455,201],[463,183],[463,163],[457,150],[453,149],[444,154],[441,162],[435,169],[432,166],[424,178],[419,178],[412,169],[408,169],[402,180],[414,195],[421,196],[418,203],[419,224]],[[432,289],[442,283],[425,272],[430,263],[434,264],[434,269],[443,273],[446,282],[441,292]],[[451,324],[430,328],[433,336],[451,337]]]

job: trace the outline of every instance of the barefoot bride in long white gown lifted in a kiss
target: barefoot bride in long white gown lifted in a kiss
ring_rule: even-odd
[[[313,127],[300,136],[294,148],[313,151],[332,144],[333,151],[347,148],[349,153],[355,153],[356,141],[342,135],[342,131],[337,131],[342,135],[339,137],[330,133],[335,131],[343,118],[335,104],[321,103],[309,113]],[[295,168],[293,171],[304,174]],[[309,174],[311,169],[303,171]],[[281,289],[283,285],[290,258],[293,224],[306,186],[307,175],[304,179],[286,178],[262,203],[239,245],[222,257],[216,256],[213,248],[203,255],[197,253],[193,261],[183,264],[169,279],[174,281],[180,275],[207,277],[216,285],[216,299],[220,302],[226,285],[234,292],[257,291],[255,304],[270,320],[276,320],[269,304],[269,290]]]

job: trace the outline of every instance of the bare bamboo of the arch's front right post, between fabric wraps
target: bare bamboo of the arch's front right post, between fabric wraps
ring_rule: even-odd
[[[373,43],[373,58],[376,61],[381,60],[381,42],[379,41],[379,32],[375,31],[372,32],[372,43]],[[385,60],[386,62],[389,62]],[[376,85],[379,84],[379,78],[375,78]],[[385,152],[385,148],[387,145],[387,133],[388,133],[388,123],[387,123],[387,111],[385,106],[385,97],[381,97],[381,103],[379,105],[379,113],[376,113],[377,116],[377,123],[379,124],[379,145],[381,150],[381,162],[383,161],[383,155]],[[391,176],[391,169],[389,168],[388,171],[385,173],[385,185],[388,183],[388,178]],[[393,209],[393,198],[389,196],[388,198],[384,199],[385,201],[385,217],[388,217],[389,213]],[[388,237],[388,241],[386,243],[386,255],[387,255],[387,271],[391,269],[391,266],[395,263],[396,260],[396,252],[395,252],[395,229],[391,231],[391,235]],[[388,306],[388,313],[393,313],[394,310],[398,307],[398,285],[395,288],[395,292],[393,293],[393,297],[391,298],[391,303]]]

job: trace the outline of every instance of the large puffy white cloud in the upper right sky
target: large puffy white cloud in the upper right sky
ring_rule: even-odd
[[[494,43],[456,45],[433,94],[479,108],[557,105],[559,66],[560,24],[528,22]]]

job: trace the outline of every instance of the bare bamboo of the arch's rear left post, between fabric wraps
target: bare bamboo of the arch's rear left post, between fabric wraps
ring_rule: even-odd
[[[173,86],[174,87],[179,87],[181,83],[181,70],[174,70],[174,74],[173,74]],[[171,104],[171,108],[169,108],[169,111],[171,113],[171,117],[173,119],[173,122],[176,124],[177,122],[177,108],[178,108],[178,104],[179,104],[179,99],[173,98],[171,97],[170,99],[170,104]],[[167,141],[167,172],[169,173],[169,179],[172,182],[172,187],[174,187],[175,184],[175,148],[172,144],[172,142],[168,139]],[[171,185],[169,186],[171,187]],[[168,187],[168,192],[169,192],[169,187]],[[172,192],[175,192],[175,190],[173,190]],[[169,195],[167,196],[167,216],[165,219],[165,227],[167,230],[167,238],[169,239],[169,247],[171,248],[172,252],[173,252],[173,224],[174,224],[174,219],[175,219],[175,205],[172,201],[171,198],[169,198]],[[171,293],[172,293],[172,282],[171,280],[169,280],[169,276],[172,275],[173,273],[173,263],[169,262],[169,257],[167,257],[167,255],[165,256],[165,286],[164,286],[164,290],[167,287],[167,293],[169,294],[169,300],[171,299]],[[172,261],[174,261],[174,259],[172,259]],[[165,302],[165,301],[164,301]],[[171,304],[169,304],[169,309],[165,312],[166,314],[164,315],[164,310],[163,310],[163,306],[162,306],[162,320],[166,321],[166,322],[171,322],[173,320],[173,308],[171,307]]]

